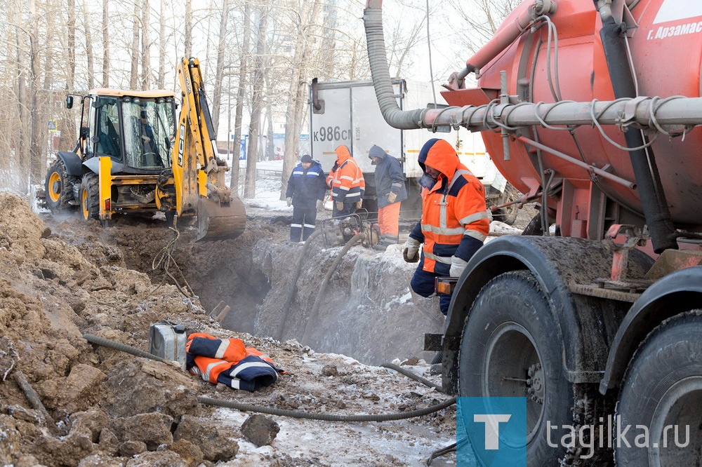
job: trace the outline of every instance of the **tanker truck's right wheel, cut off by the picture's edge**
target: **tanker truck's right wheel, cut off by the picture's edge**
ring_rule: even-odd
[[[619,432],[630,427],[625,437],[617,437],[614,424],[618,466],[681,467],[702,462],[700,336],[702,309],[665,320],[639,346],[616,409]]]

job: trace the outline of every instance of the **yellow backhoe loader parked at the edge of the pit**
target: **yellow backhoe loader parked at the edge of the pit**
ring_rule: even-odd
[[[168,222],[197,222],[196,240],[235,238],[244,231],[244,203],[225,184],[216,155],[197,58],[178,65],[183,93],[94,89],[81,98],[81,131],[73,151],[60,151],[46,174],[53,212],[79,205],[84,219],[107,225],[121,212],[156,212]],[[67,97],[68,108],[72,96]]]

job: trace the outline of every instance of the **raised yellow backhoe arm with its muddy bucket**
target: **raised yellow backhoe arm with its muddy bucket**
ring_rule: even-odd
[[[244,231],[246,210],[227,188],[226,161],[216,156],[216,131],[197,58],[180,61],[178,80],[183,105],[171,156],[176,213],[179,217],[197,215],[197,240],[234,238]]]

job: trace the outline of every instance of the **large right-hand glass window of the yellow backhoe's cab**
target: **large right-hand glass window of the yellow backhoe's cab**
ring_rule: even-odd
[[[122,116],[126,165],[145,170],[170,167],[175,136],[173,98],[126,98]]]

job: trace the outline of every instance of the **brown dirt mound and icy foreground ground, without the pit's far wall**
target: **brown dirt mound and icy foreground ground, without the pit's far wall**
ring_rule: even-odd
[[[387,370],[315,354],[295,341],[281,344],[225,331],[213,323],[206,314],[211,306],[183,294],[185,282],[206,291],[200,292],[203,302],[205,295],[214,302],[238,290],[254,310],[241,314],[241,322],[248,317],[253,326],[258,294],[265,295],[270,285],[246,248],[276,235],[265,226],[257,229],[247,231],[236,246],[184,242],[173,251],[171,272],[180,267],[184,273],[179,288],[164,279],[162,269],[150,269],[173,240],[173,231],[163,225],[100,229],[96,222],[69,218],[49,230],[24,201],[0,193],[0,462],[291,466],[380,465],[377,461],[383,459],[382,465],[404,465],[451,442],[455,412],[444,410],[409,428],[393,422],[382,435],[368,424],[279,419],[277,439],[256,447],[241,436],[248,414],[197,402],[197,395],[208,395],[356,414],[411,410],[443,399]],[[183,237],[189,235],[183,229]],[[149,274],[128,269],[132,265]],[[235,291],[223,290],[227,282],[210,276],[212,271],[229,278]],[[93,346],[82,337],[95,334],[146,351],[150,325],[164,319],[185,325],[187,333],[241,337],[288,374],[257,393],[234,392],[165,363]],[[337,371],[330,372],[329,365]],[[312,441],[309,433],[316,433]],[[368,446],[369,436],[384,438],[378,449]],[[416,436],[428,438],[415,445]]]

